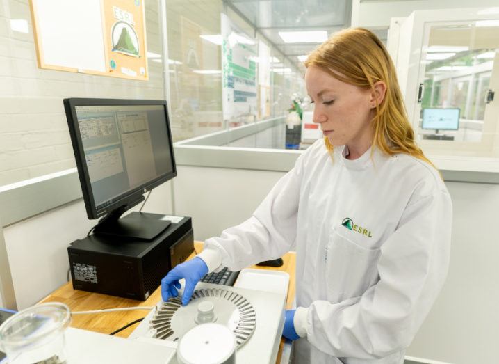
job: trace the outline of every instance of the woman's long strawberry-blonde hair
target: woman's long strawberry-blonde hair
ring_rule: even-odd
[[[354,28],[332,35],[306,59],[305,66],[312,65],[347,84],[371,90],[374,90],[377,81],[383,81],[386,94],[382,102],[376,104],[376,114],[371,123],[373,144],[387,155],[404,153],[434,166],[414,141],[414,130],[407,118],[395,66],[373,32]],[[333,145],[327,137],[325,144],[332,152]]]

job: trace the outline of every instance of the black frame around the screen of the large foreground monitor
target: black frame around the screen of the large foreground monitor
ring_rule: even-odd
[[[129,209],[143,200],[143,194],[160,184],[171,180],[177,176],[177,164],[175,163],[175,155],[172,141],[172,129],[170,127],[170,117],[168,115],[167,102],[165,100],[126,100],[126,99],[96,99],[96,98],[78,98],[72,97],[64,99],[64,107],[66,112],[67,124],[69,127],[69,135],[71,136],[74,157],[76,159],[76,168],[78,169],[81,191],[83,193],[83,201],[89,219],[99,219],[101,216],[110,214],[111,212],[124,208]],[[92,184],[90,183],[90,175],[85,160],[85,152],[83,150],[83,141],[81,139],[78,118],[76,116],[76,106],[147,106],[161,105],[165,111],[166,127],[168,132],[168,143],[170,146],[170,154],[172,156],[173,169],[171,172],[164,173],[159,177],[154,178],[140,186],[122,193],[122,195],[113,198],[113,202],[104,207],[97,209],[95,205],[94,195],[92,193]]]

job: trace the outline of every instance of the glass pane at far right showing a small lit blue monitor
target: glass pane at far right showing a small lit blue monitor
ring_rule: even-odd
[[[420,59],[418,136],[433,153],[499,156],[499,20],[427,22]],[[417,115],[417,114],[416,114]]]

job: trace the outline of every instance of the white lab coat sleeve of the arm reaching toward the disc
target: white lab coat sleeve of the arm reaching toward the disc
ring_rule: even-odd
[[[209,257],[199,254],[208,269],[239,271],[248,265],[281,257],[295,242],[303,158],[275,184],[254,214],[204,243]]]

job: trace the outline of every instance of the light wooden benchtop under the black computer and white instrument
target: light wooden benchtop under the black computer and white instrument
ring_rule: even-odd
[[[195,249],[198,253],[199,251],[202,251],[202,247],[202,242],[195,242]],[[195,255],[193,253],[188,259],[191,259],[194,256]],[[286,308],[291,308],[293,300],[295,299],[296,255],[295,253],[286,253],[286,255],[282,257],[282,260],[284,260],[284,265],[282,267],[259,267],[255,265],[251,268],[268,269],[272,271],[286,271],[289,274],[288,299],[286,300]],[[103,310],[104,308],[154,306],[160,299],[161,287],[158,287],[158,289],[155,290],[154,293],[151,294],[151,296],[149,296],[149,299],[142,302],[133,299],[108,296],[107,294],[73,290],[72,283],[68,282],[49,294],[49,296],[42,299],[40,303],[62,302],[69,306],[72,311],[88,311]],[[108,312],[97,315],[73,315],[71,326],[78,329],[97,331],[99,333],[112,333],[116,329],[120,329],[120,327],[125,326],[126,324],[129,324],[136,319],[145,317],[145,315],[147,315],[147,311],[145,310]],[[116,336],[128,338],[128,336],[134,329],[136,329],[136,325],[132,325],[128,329],[117,333]],[[279,363],[281,358],[281,350],[282,341],[281,347],[279,348],[279,354],[277,355],[277,363]]]

